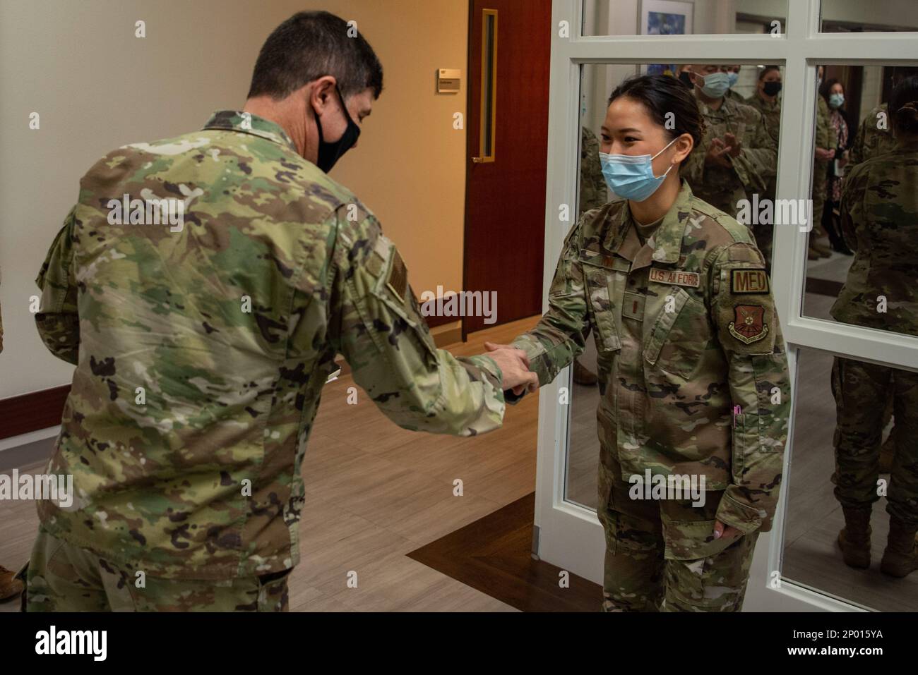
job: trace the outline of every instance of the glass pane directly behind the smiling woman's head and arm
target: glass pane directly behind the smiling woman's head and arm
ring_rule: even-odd
[[[713,97],[708,74],[718,75],[738,69],[738,79],[720,97]],[[776,66],[720,66],[711,64],[672,64],[668,72],[680,73],[682,83],[691,88],[705,117],[707,133],[693,150],[693,166],[705,165],[712,146],[722,148],[737,145],[738,164],[744,171],[725,166],[705,167],[688,171],[684,163],[681,175],[692,192],[716,205],[731,216],[739,213],[744,201],[764,204],[774,198],[777,172],[778,125],[780,122],[780,93],[782,69]],[[580,164],[577,185],[577,216],[606,204],[610,194],[603,178],[599,152],[603,145],[601,127],[605,121],[612,90],[622,81],[645,72],[664,72],[661,66],[636,64],[589,64],[580,71]],[[683,74],[684,73],[684,74]],[[693,73],[689,76],[689,73]],[[694,78],[694,79],[692,79]],[[715,78],[723,80],[722,77]],[[713,82],[713,81],[711,81]],[[708,86],[705,94],[704,87]],[[745,94],[745,98],[744,98]],[[610,151],[607,147],[605,151]],[[770,260],[773,233],[770,227],[756,222],[746,223]],[[568,383],[570,407],[568,414],[567,465],[565,499],[595,507],[597,502],[597,473],[599,470],[599,439],[597,409],[600,393],[596,379],[610,377],[610,356],[599,362],[596,337],[587,339],[587,348],[572,368],[573,382]]]

